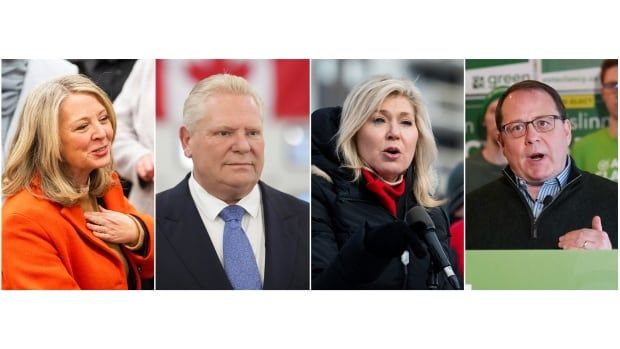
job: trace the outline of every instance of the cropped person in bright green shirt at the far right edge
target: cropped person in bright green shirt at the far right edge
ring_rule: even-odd
[[[572,156],[579,168],[618,181],[618,60],[601,64],[601,97],[609,112],[609,126],[575,142]]]

